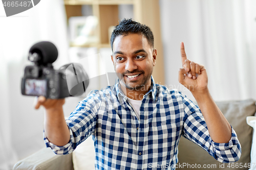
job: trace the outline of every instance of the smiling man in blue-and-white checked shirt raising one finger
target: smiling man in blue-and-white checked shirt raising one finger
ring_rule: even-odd
[[[179,82],[199,107],[178,90],[154,83],[157,50],[150,28],[123,19],[112,33],[111,47],[118,82],[91,91],[67,120],[64,100],[38,98],[35,108],[46,108],[47,147],[69,154],[93,135],[96,169],[175,169],[181,136],[220,162],[240,158],[236,132],[208,91],[206,69],[187,59],[183,42]]]

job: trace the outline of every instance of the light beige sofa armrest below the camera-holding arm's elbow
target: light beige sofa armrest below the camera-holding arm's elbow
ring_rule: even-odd
[[[72,154],[56,155],[51,148],[44,148],[18,161],[13,170],[73,170]]]

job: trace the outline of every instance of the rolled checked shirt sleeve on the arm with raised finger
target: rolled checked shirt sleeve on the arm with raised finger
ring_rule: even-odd
[[[214,142],[208,132],[204,117],[197,105],[182,95],[184,103],[184,125],[182,135],[198,144],[219,162],[238,161],[241,157],[241,145],[236,132],[231,127],[231,139],[228,143]]]

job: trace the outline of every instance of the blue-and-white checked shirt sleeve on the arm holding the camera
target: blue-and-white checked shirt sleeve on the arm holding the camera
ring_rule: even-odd
[[[78,144],[86,140],[95,131],[97,122],[96,113],[100,103],[100,97],[91,92],[87,98],[79,102],[76,109],[66,119],[70,131],[69,142],[63,146],[57,146],[51,143],[44,133],[46,146],[50,147],[58,155],[72,153]]]

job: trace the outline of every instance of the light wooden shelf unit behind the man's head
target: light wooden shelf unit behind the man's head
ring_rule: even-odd
[[[160,29],[160,14],[158,0],[64,0],[67,19],[72,16],[82,16],[82,5],[91,5],[93,15],[99,19],[97,35],[99,43],[79,45],[82,47],[111,47],[108,29],[118,24],[118,5],[133,5],[134,19],[149,26],[154,34],[154,48],[157,49],[157,64],[153,77],[157,84],[164,84],[163,49]],[[77,46],[70,44],[71,46]]]

